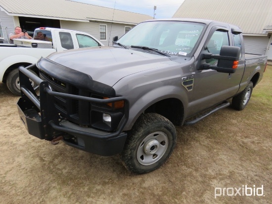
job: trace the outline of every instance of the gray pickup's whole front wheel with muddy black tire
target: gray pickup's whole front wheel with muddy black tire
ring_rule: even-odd
[[[176,128],[168,119],[157,113],[143,114],[128,132],[121,160],[133,173],[148,173],[169,158],[176,143]]]

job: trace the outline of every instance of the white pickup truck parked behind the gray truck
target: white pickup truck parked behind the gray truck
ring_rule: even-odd
[[[0,44],[0,82],[5,83],[13,94],[21,94],[19,66],[36,63],[41,57],[46,57],[56,51],[104,46],[88,33],[59,28],[37,28],[34,32],[34,40],[23,40],[23,42],[35,45],[35,42],[39,43],[41,40],[51,42],[51,48]],[[31,71],[37,72],[37,70]],[[35,86],[35,83],[32,82],[32,85]]]

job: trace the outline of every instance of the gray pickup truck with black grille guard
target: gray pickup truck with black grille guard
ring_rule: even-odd
[[[39,139],[120,154],[130,171],[153,171],[173,152],[175,125],[192,125],[231,98],[237,110],[248,104],[267,57],[245,58],[241,33],[209,20],[149,20],[113,46],[52,53],[19,68],[20,118]]]

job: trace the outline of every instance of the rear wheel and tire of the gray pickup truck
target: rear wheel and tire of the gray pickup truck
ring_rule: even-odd
[[[249,82],[246,88],[240,94],[232,98],[232,107],[236,110],[243,110],[250,100],[252,90],[253,83]]]

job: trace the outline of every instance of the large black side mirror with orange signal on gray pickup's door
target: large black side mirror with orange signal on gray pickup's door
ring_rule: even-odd
[[[220,54],[203,54],[203,59],[218,59],[217,66],[203,64],[203,69],[213,69],[223,73],[234,73],[238,67],[241,49],[234,46],[222,46]]]

